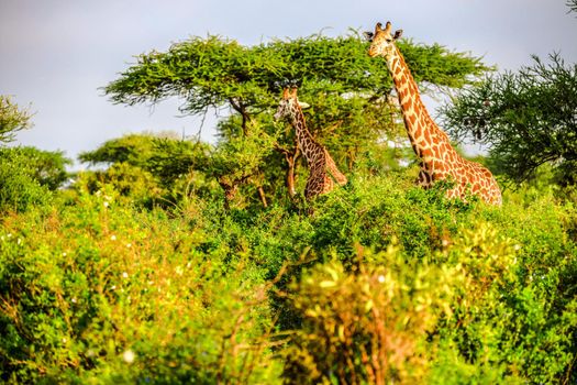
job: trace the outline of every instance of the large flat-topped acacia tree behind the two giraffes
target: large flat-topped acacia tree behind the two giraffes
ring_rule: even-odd
[[[421,85],[461,87],[489,69],[478,58],[436,44],[403,41],[399,46]],[[387,102],[392,82],[386,65],[368,57],[356,33],[255,46],[192,37],[167,52],[137,56],[104,90],[114,103],[157,103],[177,96],[184,113],[229,109],[232,113],[217,128],[218,158],[226,162],[214,162],[213,175],[232,193],[256,180],[265,204],[264,190],[285,190],[277,180],[290,183],[298,158],[292,130],[271,119],[279,100],[276,84],[282,79],[299,81],[299,97],[311,106],[309,129],[341,167],[353,167],[377,139],[398,132]]]

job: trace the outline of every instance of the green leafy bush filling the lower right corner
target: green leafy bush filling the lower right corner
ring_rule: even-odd
[[[469,272],[454,318],[441,333],[453,336],[452,350],[464,353],[457,367],[473,378],[492,375],[496,382],[500,373],[501,381],[512,375],[518,382],[554,383],[570,376],[575,297],[559,289],[558,275],[575,268],[577,254],[559,220],[575,209],[558,211],[550,199],[539,198],[522,213],[506,208],[497,223],[511,216],[507,232],[499,234],[488,223],[464,231],[464,239],[443,255]],[[559,300],[563,305],[555,306]],[[474,369],[467,361],[482,365]]]

